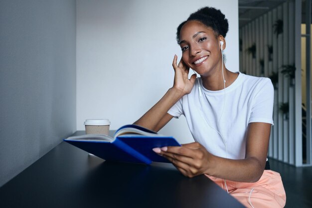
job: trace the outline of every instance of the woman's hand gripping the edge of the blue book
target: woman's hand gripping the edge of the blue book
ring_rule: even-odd
[[[182,147],[154,148],[154,152],[168,159],[184,176],[192,178],[207,173],[213,155],[198,142]]]

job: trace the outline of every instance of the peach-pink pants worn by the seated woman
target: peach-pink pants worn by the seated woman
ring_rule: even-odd
[[[224,180],[208,176],[226,191]],[[284,208],[286,193],[279,173],[265,170],[256,183],[242,183],[226,180],[229,194],[248,208]]]

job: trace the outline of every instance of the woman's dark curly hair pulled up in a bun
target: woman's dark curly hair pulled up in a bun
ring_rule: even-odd
[[[176,41],[180,43],[180,30],[182,26],[190,20],[197,20],[207,27],[210,27],[216,34],[226,36],[226,33],[229,30],[229,23],[225,15],[214,7],[203,7],[198,9],[196,12],[191,13],[186,21],[183,21],[176,29]]]

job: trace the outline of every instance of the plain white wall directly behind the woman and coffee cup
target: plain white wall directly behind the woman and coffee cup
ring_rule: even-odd
[[[117,129],[149,110],[173,83],[176,27],[207,5],[229,19],[226,66],[238,71],[238,0],[77,0],[77,130],[88,118]],[[192,141],[182,116],[161,133]]]

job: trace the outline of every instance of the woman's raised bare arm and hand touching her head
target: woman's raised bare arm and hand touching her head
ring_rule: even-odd
[[[181,59],[177,65],[177,56],[174,55],[172,66],[174,69],[173,86],[165,93],[165,95],[138,121],[134,124],[143,126],[145,128],[158,131],[166,123],[168,123],[172,116],[167,111],[185,94],[190,93],[193,88],[196,75],[193,74],[188,79],[189,68]]]

